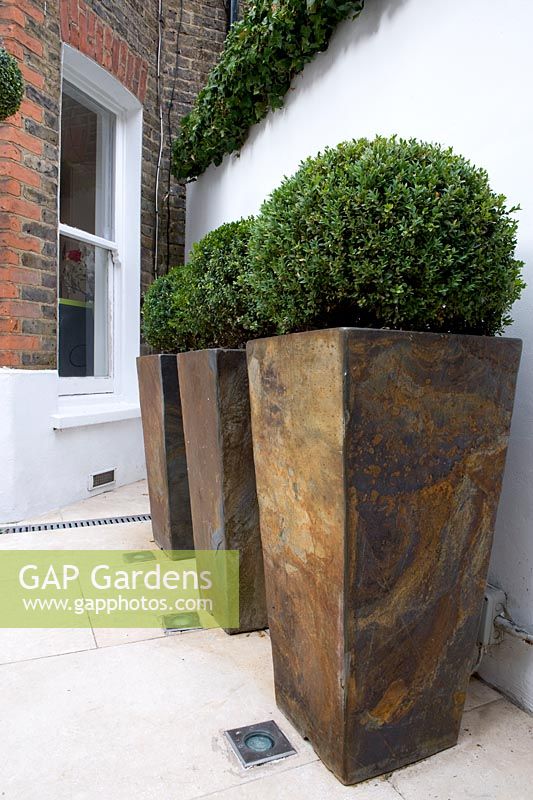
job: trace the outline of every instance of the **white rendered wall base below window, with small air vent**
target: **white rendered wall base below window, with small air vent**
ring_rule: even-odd
[[[52,370],[0,369],[0,523],[90,497],[89,475],[110,465],[116,486],[146,475],[138,404],[78,397],[78,411],[60,413],[58,381]]]

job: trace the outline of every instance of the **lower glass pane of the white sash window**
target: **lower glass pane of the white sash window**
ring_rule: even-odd
[[[110,374],[109,250],[60,237],[59,375]]]

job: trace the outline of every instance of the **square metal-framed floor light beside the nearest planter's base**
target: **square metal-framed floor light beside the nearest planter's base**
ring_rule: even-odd
[[[296,755],[296,750],[274,720],[225,731],[226,738],[245,769]]]

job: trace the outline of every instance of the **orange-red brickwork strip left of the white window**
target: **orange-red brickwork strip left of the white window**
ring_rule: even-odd
[[[19,61],[26,92],[18,114],[0,125],[2,366],[55,362],[57,219],[46,199],[57,191],[58,137],[42,100],[54,104],[57,81],[47,84],[43,69],[50,57],[50,42],[40,35],[44,22],[42,3],[4,0],[0,37]]]

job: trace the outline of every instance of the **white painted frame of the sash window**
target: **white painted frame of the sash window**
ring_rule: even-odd
[[[62,417],[79,418],[80,403],[89,412],[95,404],[98,407],[102,403],[114,404],[116,408],[126,405],[130,411],[138,404],[135,358],[140,339],[142,105],[107,70],[69,45],[63,45],[62,66],[63,80],[115,115],[111,206],[114,236],[108,240],[61,222],[58,226],[58,245],[59,236],[64,235],[103,247],[110,253],[111,352],[110,377],[59,377],[60,406],[59,414],[54,416],[54,427],[62,427]]]

